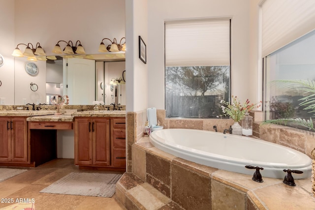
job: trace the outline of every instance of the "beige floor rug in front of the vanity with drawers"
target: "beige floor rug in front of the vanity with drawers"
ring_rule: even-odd
[[[110,198],[122,174],[70,173],[42,189],[43,193],[86,195]]]

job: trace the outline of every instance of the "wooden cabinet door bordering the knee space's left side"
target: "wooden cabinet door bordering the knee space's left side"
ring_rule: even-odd
[[[27,121],[25,118],[11,118],[12,162],[28,161]]]

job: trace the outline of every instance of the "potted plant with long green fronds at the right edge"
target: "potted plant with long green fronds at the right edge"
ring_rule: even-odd
[[[308,80],[275,80],[272,81],[271,84],[277,84],[281,88],[287,88],[291,90],[302,90],[306,94],[303,98],[299,99],[302,102],[299,103],[299,106],[303,107],[303,110],[306,110],[309,113],[315,113],[315,81]],[[284,119],[276,119],[276,120],[266,120],[263,124],[273,123],[273,124],[281,124],[281,125],[298,125],[304,128],[307,128],[310,131],[315,132],[315,127],[313,124],[312,117],[310,119],[305,120],[302,118],[284,118]],[[313,194],[315,196],[315,149],[312,150],[311,156],[313,159],[312,166],[312,188]]]

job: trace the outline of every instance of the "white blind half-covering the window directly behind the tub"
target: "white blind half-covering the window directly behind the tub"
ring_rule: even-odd
[[[165,23],[166,66],[230,64],[230,19]]]

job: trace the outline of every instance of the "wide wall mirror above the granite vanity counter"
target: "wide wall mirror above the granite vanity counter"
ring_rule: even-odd
[[[69,105],[92,105],[95,100],[102,101],[107,105],[116,101],[119,101],[118,103],[121,105],[126,105],[125,84],[115,85],[117,87],[120,86],[116,95],[115,90],[113,90],[113,95],[119,96],[119,100],[115,97],[110,97],[113,93],[110,92],[110,80],[112,78],[125,79],[126,77],[125,59],[121,57],[114,58],[113,56],[115,55],[110,54],[109,57],[108,54],[95,54],[90,55],[88,59],[80,58],[79,60],[93,60],[93,70],[86,72],[85,64],[79,65],[76,63],[72,73],[69,73],[69,66],[66,65],[72,58],[65,59],[61,56],[56,56],[57,60],[37,61],[36,64],[39,70],[36,75],[26,74],[24,67],[28,62],[26,58],[15,58],[14,104],[52,104],[51,98],[54,95],[68,95]],[[80,72],[80,69],[82,72]],[[83,73],[86,73],[85,76],[81,76],[79,79],[73,77],[75,74],[82,75]],[[26,83],[28,83],[29,87],[31,83],[36,83],[38,90],[27,91],[25,88]],[[89,86],[86,86],[87,84]],[[113,87],[113,89],[116,89],[116,87]]]

